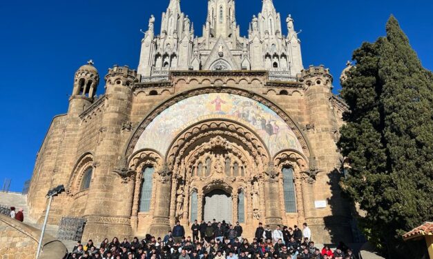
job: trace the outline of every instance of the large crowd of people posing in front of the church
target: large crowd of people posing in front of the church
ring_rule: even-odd
[[[185,237],[185,229],[176,222],[173,231],[164,238],[146,235],[131,242],[105,239],[99,247],[88,240],[85,245],[77,242],[70,258],[77,259],[355,259],[353,251],[343,242],[332,251],[328,246],[319,249],[311,240],[311,230],[306,223],[298,226],[271,230],[262,223],[256,229],[255,238],[242,238],[239,222],[195,222],[191,226],[192,237]]]

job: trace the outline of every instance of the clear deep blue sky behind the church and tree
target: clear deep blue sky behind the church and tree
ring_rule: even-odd
[[[394,14],[425,68],[433,70],[432,0],[299,1],[274,0],[282,20],[287,14],[302,30],[305,67],[323,64],[336,79],[354,49],[385,34]],[[80,65],[95,61],[102,77],[114,64],[136,68],[140,29],[146,30],[169,0],[0,1],[0,189],[12,178],[12,191],[21,191],[32,176],[35,155],[53,116],[65,113],[73,76]],[[260,0],[237,0],[236,19],[247,34]],[[206,0],[182,0],[195,32],[202,34]],[[282,25],[283,32],[286,25]],[[338,80],[334,80],[338,91]],[[103,82],[98,94],[104,91]],[[1,202],[0,202],[1,203]]]

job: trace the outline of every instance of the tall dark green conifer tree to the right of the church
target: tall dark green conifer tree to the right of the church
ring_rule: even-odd
[[[338,145],[352,167],[343,189],[367,211],[365,234],[403,258],[401,234],[433,220],[433,76],[394,17],[386,30],[354,52]]]

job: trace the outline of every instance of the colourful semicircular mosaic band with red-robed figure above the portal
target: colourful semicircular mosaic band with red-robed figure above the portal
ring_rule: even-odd
[[[134,152],[146,148],[166,154],[180,132],[200,121],[218,118],[250,127],[262,138],[271,156],[282,149],[302,153],[296,135],[276,112],[258,101],[227,93],[201,94],[175,103],[146,127]]]

